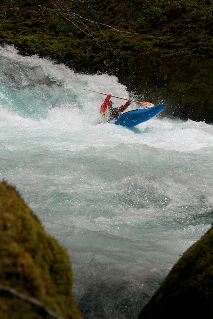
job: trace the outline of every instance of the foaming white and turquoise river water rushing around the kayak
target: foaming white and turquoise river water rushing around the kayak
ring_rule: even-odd
[[[213,126],[100,123],[104,97],[83,89],[129,97],[115,76],[0,47],[0,180],[67,248],[84,318],[135,319],[213,221]]]

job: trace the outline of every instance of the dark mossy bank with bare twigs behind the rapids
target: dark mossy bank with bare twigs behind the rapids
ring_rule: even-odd
[[[213,122],[212,7],[213,0],[4,0],[0,43],[76,71],[115,74],[129,92],[165,101],[168,114]]]

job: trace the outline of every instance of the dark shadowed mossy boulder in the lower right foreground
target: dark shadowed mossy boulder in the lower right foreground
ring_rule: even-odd
[[[172,268],[138,319],[213,318],[213,227]]]

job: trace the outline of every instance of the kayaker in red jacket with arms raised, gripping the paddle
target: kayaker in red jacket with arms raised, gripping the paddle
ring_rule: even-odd
[[[111,97],[112,95],[108,94],[100,108],[101,115],[103,117],[107,117],[108,121],[117,119],[132,102],[132,99],[129,99],[124,105],[121,105],[119,108],[117,108],[115,106],[112,106],[113,102],[110,100]]]

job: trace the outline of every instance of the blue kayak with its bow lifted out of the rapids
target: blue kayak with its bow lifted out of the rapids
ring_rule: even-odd
[[[139,109],[139,110],[125,112],[121,114],[116,120],[112,120],[109,123],[128,126],[128,127],[135,126],[153,118],[161,110],[163,110],[163,108],[164,108],[164,103],[161,103],[161,104],[152,106],[151,108],[148,108],[148,109]]]

